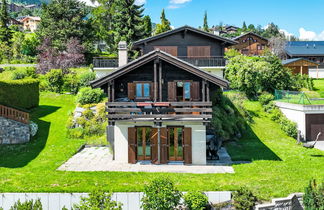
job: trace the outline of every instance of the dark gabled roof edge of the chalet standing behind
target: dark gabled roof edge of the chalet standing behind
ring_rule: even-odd
[[[140,45],[140,44],[143,44],[143,43],[146,43],[146,42],[150,42],[150,41],[153,41],[153,40],[161,39],[161,38],[166,37],[166,36],[169,36],[171,34],[178,33],[180,31],[186,31],[186,30],[187,31],[194,32],[194,33],[198,33],[198,34],[201,34],[201,35],[204,35],[204,36],[213,38],[213,39],[216,39],[218,41],[222,41],[222,42],[228,43],[230,45],[237,44],[235,41],[233,41],[231,39],[227,39],[227,38],[224,38],[224,37],[220,37],[220,36],[214,35],[212,33],[208,33],[206,31],[202,31],[202,30],[199,30],[197,28],[193,28],[191,26],[187,26],[186,25],[186,26],[182,26],[180,28],[176,28],[176,29],[173,29],[173,30],[170,30],[170,31],[161,33],[161,34],[158,34],[156,36],[152,36],[152,37],[149,37],[149,38],[146,38],[146,39],[141,39],[139,41],[134,42],[133,45],[134,46],[135,45]]]

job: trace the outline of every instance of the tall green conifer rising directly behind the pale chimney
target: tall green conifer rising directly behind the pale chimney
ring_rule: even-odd
[[[136,5],[135,0],[117,1],[113,22],[114,43],[123,40],[128,44],[145,37],[143,24],[143,5]]]

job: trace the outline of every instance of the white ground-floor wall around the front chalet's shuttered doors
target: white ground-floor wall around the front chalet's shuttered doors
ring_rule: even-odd
[[[152,126],[152,122],[126,123],[117,122],[115,124],[115,160],[128,163],[128,127],[134,126]],[[166,122],[166,126],[185,126],[192,128],[192,164],[206,164],[206,126],[202,123],[192,122]]]

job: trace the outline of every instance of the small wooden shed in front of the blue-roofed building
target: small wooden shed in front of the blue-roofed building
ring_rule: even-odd
[[[319,71],[318,71],[319,64],[314,61],[307,60],[305,58],[291,58],[291,59],[283,60],[282,65],[290,68],[292,70],[293,74],[309,75],[310,67],[316,68],[316,70],[317,70],[316,77],[318,77],[318,74],[319,74]]]

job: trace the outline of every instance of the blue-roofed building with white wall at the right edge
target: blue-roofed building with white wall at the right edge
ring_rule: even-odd
[[[287,42],[285,51],[288,59],[304,58],[319,64],[308,67],[309,77],[324,78],[324,41]]]

